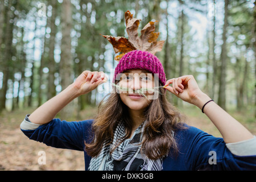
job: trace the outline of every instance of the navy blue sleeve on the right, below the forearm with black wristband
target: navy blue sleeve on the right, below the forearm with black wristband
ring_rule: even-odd
[[[183,147],[193,170],[256,170],[256,156],[237,156],[216,138],[195,127],[188,129]],[[246,149],[245,149],[246,150]]]

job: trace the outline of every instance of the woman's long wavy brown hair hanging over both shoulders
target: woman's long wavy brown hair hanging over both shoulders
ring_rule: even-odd
[[[100,102],[98,115],[93,122],[93,139],[91,143],[85,143],[85,151],[90,156],[100,154],[106,139],[110,142],[114,137],[114,130],[122,119],[127,129],[123,140],[130,138],[131,125],[127,106],[123,104],[118,93],[110,93]],[[142,150],[149,159],[158,159],[168,155],[170,148],[174,153],[178,151],[178,145],[174,137],[177,129],[184,129],[180,125],[184,121],[183,115],[168,102],[163,88],[159,88],[159,96],[152,100],[144,111],[144,133]],[[116,146],[116,145],[115,145]],[[112,150],[113,151],[113,150]]]

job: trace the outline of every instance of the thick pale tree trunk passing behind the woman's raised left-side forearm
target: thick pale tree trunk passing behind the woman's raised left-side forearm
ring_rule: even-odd
[[[72,28],[72,5],[71,1],[64,0],[61,10],[61,54],[60,54],[60,77],[61,88],[64,90],[72,84],[72,56],[71,56],[71,28]],[[72,117],[73,108],[68,104],[60,111],[60,117]]]

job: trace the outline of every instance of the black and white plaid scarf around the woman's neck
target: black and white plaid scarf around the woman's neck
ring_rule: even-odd
[[[89,170],[103,171],[159,171],[162,170],[162,158],[157,160],[148,159],[141,150],[141,141],[143,137],[143,124],[134,131],[133,137],[124,140],[110,154],[110,148],[120,142],[125,137],[125,126],[119,122],[114,132],[113,142],[110,140],[104,142],[100,155],[90,160]]]

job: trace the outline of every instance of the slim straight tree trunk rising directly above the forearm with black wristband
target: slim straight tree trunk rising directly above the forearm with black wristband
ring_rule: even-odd
[[[227,51],[226,51],[226,28],[228,27],[228,5],[229,0],[225,0],[225,13],[224,13],[224,25],[222,33],[223,44],[221,46],[221,74],[220,74],[220,87],[218,90],[218,105],[222,109],[226,110],[226,63],[227,63]]]

